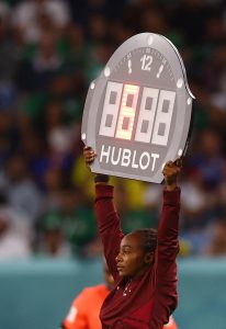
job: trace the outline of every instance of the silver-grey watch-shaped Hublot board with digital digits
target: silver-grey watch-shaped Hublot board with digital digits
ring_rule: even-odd
[[[98,155],[91,171],[161,183],[163,164],[187,149],[193,99],[169,39],[128,38],[87,94],[81,139]]]

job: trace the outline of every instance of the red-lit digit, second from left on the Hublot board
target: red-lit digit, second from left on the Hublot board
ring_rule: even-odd
[[[116,138],[131,140],[134,118],[137,107],[139,87],[134,84],[125,84],[120,107],[120,115],[116,127]]]

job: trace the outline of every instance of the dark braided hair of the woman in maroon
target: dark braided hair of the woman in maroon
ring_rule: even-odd
[[[139,237],[139,241],[145,252],[155,252],[157,247],[157,229],[139,228],[132,232]]]

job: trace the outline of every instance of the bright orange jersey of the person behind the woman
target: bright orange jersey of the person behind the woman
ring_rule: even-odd
[[[103,300],[109,294],[104,284],[84,288],[72,302],[69,313],[64,320],[65,329],[102,329],[99,318]],[[170,317],[163,329],[178,329]]]

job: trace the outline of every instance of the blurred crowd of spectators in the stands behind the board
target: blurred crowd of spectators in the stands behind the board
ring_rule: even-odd
[[[226,4],[221,0],[0,1],[0,260],[95,257],[86,94],[140,32],[179,49],[194,102],[181,177],[181,257],[226,254]],[[162,186],[116,179],[123,228],[157,226]]]

